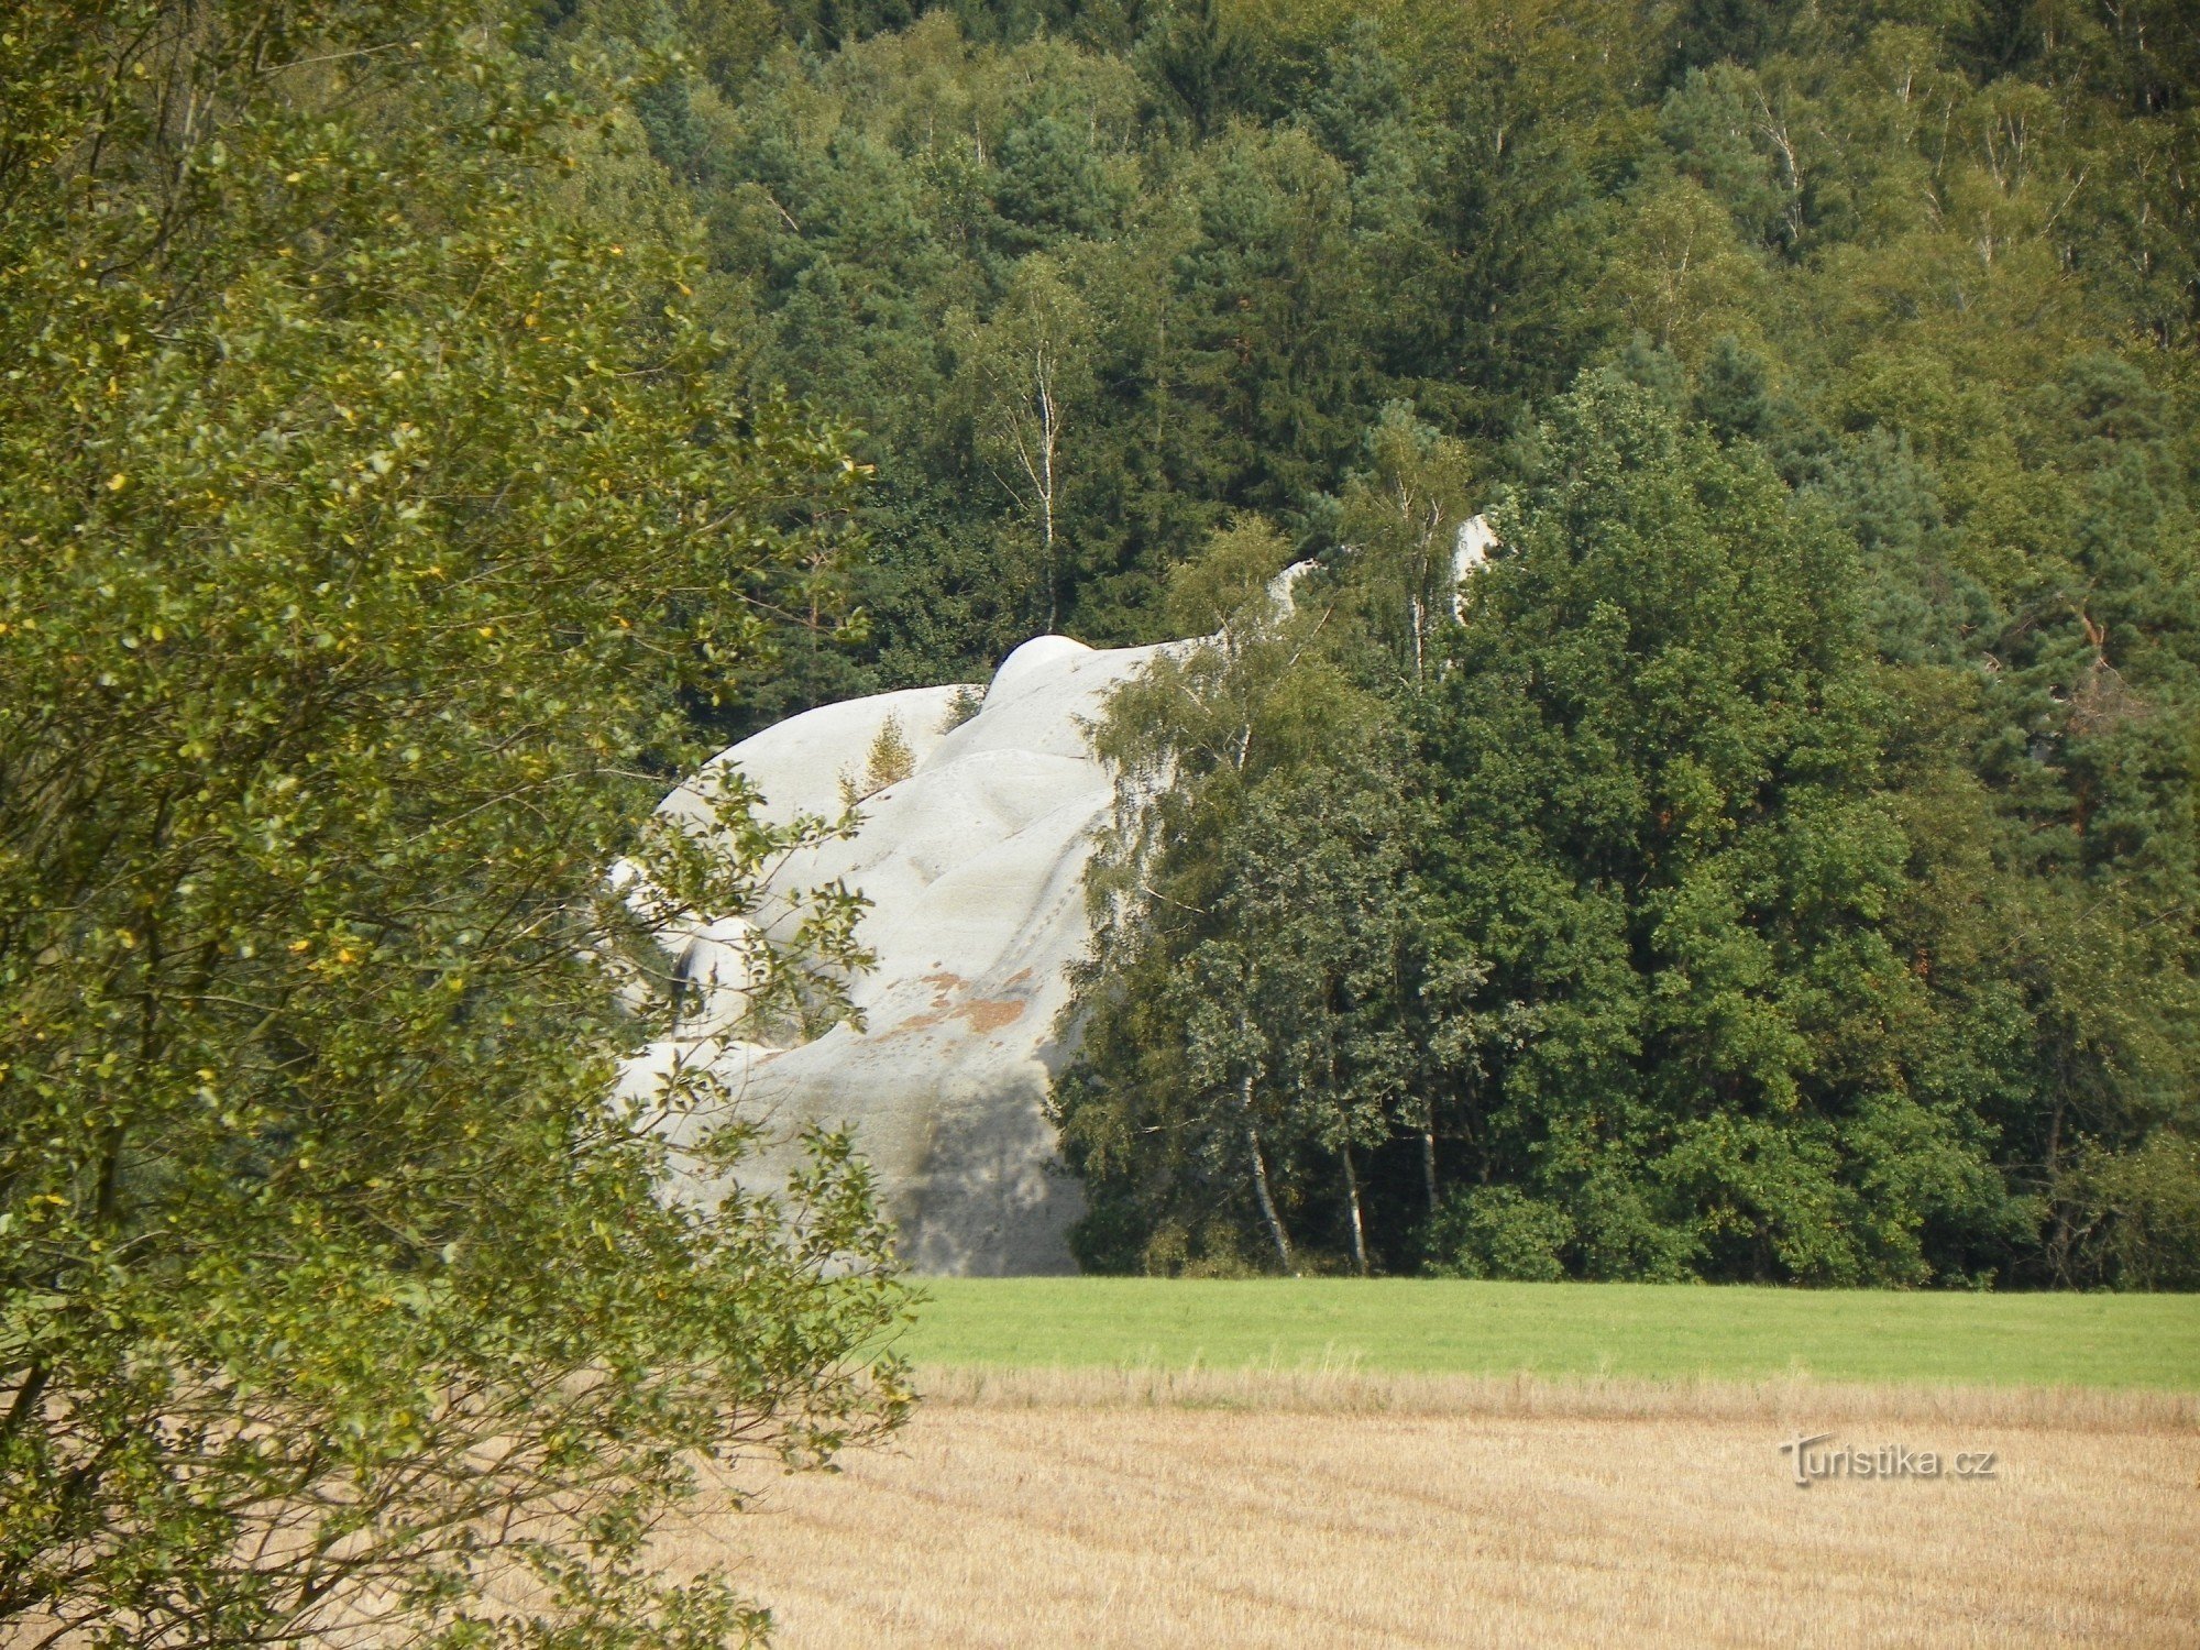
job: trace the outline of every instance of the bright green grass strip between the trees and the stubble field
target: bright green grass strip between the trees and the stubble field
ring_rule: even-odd
[[[920,1364],[2200,1390],[2200,1296],[1419,1278],[931,1278]]]

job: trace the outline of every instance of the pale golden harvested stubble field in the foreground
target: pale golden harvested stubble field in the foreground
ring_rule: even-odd
[[[790,1650],[2193,1646],[2176,1393],[948,1371],[887,1450],[673,1536]],[[1837,1478],[1819,1450],[1993,1450]]]

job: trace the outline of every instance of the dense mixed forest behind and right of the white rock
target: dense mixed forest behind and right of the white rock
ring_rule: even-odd
[[[876,469],[719,726],[1225,623],[1104,735],[1087,1265],[2200,1283],[2189,9],[535,48],[649,77],[623,209]]]

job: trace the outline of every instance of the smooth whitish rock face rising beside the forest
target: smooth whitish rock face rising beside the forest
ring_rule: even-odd
[[[871,900],[860,939],[878,966],[854,988],[865,1030],[838,1025],[788,1049],[735,1041],[748,924],[693,924],[671,939],[684,942],[702,1008],[634,1063],[627,1087],[708,1060],[774,1122],[847,1126],[915,1272],[1071,1272],[1063,1232],[1082,1197],[1054,1168],[1043,1102],[1060,1058],[1065,968],[1087,942],[1085,860],[1113,801],[1085,724],[1155,651],[1041,636],[1008,656],[955,728],[957,686],[829,704],[744,739],[667,796],[664,812],[700,818],[713,772],[730,766],[763,792],[772,821],[838,816],[843,781],[865,788],[889,719],[913,757],[906,779],[860,803],[851,838],[794,856],[774,878],[790,893],[843,878]],[[761,1159],[752,1173],[785,1166]]]

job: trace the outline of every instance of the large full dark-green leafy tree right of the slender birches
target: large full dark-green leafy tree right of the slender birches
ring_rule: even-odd
[[[1542,447],[1432,728],[1439,880],[1531,1027],[1485,1052],[1478,1173],[1566,1208],[1591,1274],[1925,1280],[1927,1223],[2009,1212],[1874,1047],[1914,981],[1850,552],[1617,383]]]

